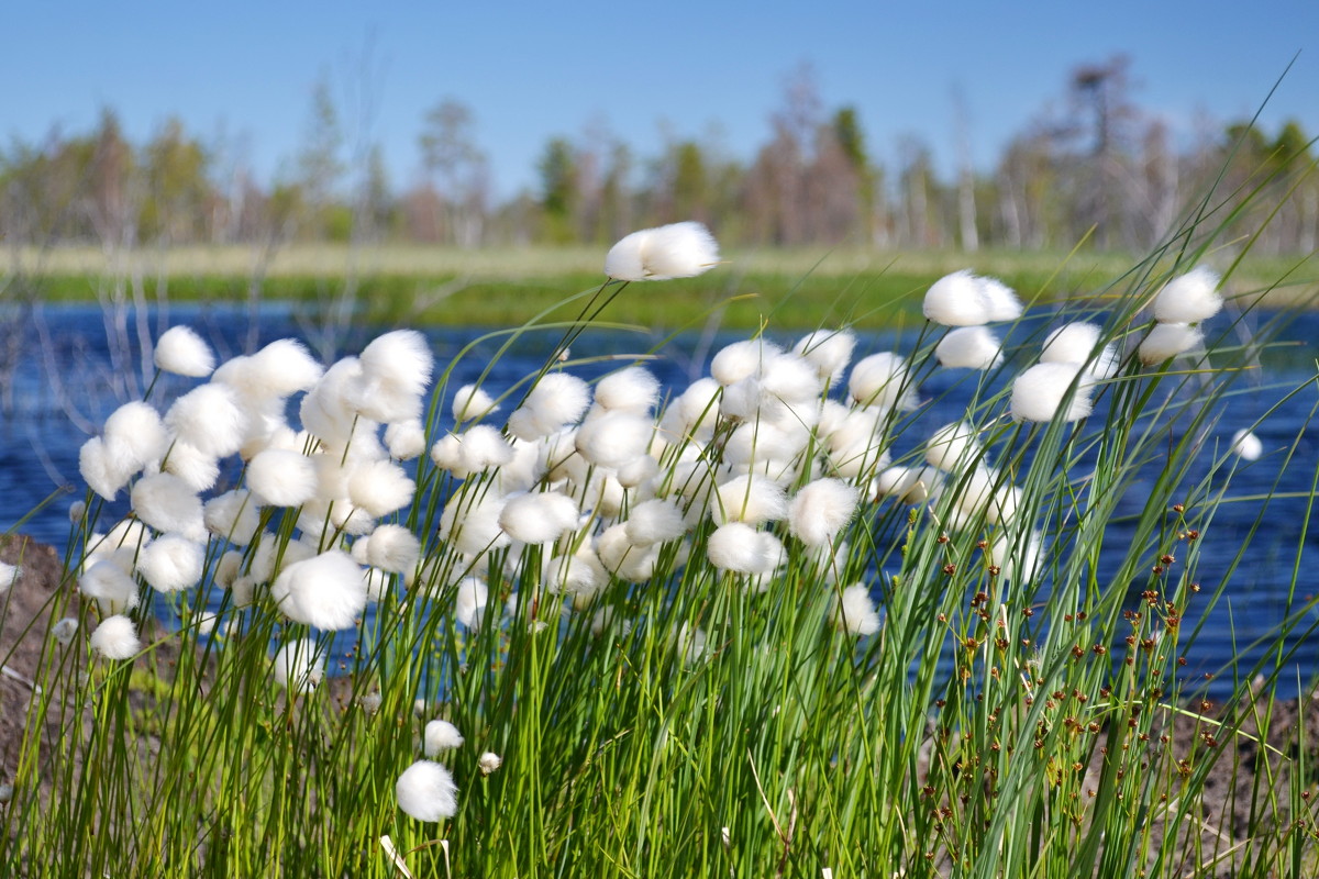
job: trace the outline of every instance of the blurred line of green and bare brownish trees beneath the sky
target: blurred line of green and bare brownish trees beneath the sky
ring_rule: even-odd
[[[343,123],[327,80],[302,144],[270,182],[232,144],[177,119],[132,144],[112,109],[83,134],[0,150],[0,237],[9,245],[103,246],[409,241],[475,248],[607,244],[696,219],[727,245],[881,249],[1145,249],[1188,211],[1258,231],[1257,248],[1310,252],[1319,239],[1314,144],[1295,121],[1269,132],[1204,120],[1190,144],[1134,101],[1129,61],[1076,67],[1060,100],[1018,132],[991,169],[959,136],[940,177],[909,136],[877,161],[853,107],[828,108],[809,69],[789,78],[768,138],[731,156],[715,137],[671,137],[653,156],[596,125],[553,137],[534,190],[495,199],[474,109],[441,100],[419,124],[421,174],[396,184],[380,145]],[[959,104],[959,128],[966,112]],[[1270,198],[1249,198],[1264,192]],[[1210,194],[1210,195],[1207,195]],[[1241,210],[1241,206],[1248,206]],[[1281,207],[1279,207],[1281,206]]]

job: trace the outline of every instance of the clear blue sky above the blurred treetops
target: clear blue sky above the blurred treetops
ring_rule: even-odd
[[[811,65],[826,108],[852,104],[872,154],[919,134],[956,156],[954,94],[975,161],[1063,95],[1068,71],[1132,58],[1133,98],[1190,137],[1199,120],[1249,116],[1293,57],[1262,116],[1319,133],[1319,4],[1128,0],[1022,3],[319,3],[12,4],[0,138],[90,129],[103,105],[144,140],[170,115],[203,138],[243,144],[262,178],[295,153],[313,88],[344,107],[369,95],[392,182],[417,173],[425,111],[476,111],[501,194],[534,184],[546,140],[604,124],[641,156],[663,137],[721,132],[751,157],[787,75]]]

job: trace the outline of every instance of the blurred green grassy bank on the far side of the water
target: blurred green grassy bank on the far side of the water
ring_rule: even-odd
[[[878,250],[733,252],[719,273],[632,290],[611,320],[658,327],[719,315],[725,327],[851,324],[894,327],[919,315],[939,277],[968,266],[993,274],[1034,302],[1104,295],[1136,261],[1093,253],[886,253]],[[1227,257],[1221,258],[1224,264]],[[1314,271],[1297,258],[1252,258],[1235,291],[1266,304],[1312,298]],[[451,250],[419,246],[181,248],[104,253],[90,248],[13,254],[5,295],[46,302],[140,297],[144,302],[235,302],[253,295],[293,302],[344,298],[384,324],[517,326],[553,307],[565,290],[601,282],[596,248]],[[571,315],[563,315],[571,316]]]

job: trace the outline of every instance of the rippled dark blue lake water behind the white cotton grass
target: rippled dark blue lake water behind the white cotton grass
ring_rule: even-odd
[[[177,323],[198,329],[220,360],[274,339],[297,337],[328,362],[359,352],[379,332],[388,329],[347,327],[327,335],[315,323],[280,303],[262,303],[255,312],[237,306],[171,306],[168,314],[156,310],[107,314],[95,306],[17,310],[0,303],[0,347],[4,348],[0,351],[0,532],[17,530],[57,547],[65,544],[69,502],[82,497],[79,448],[113,409],[128,399],[141,398],[144,377],[149,380],[150,369],[149,362],[144,362],[140,340],[156,337]],[[1014,333],[1018,341],[1031,337],[1034,351],[1038,351],[1038,333],[1043,327],[1043,322],[1022,324]],[[425,332],[433,343],[438,369],[443,369],[464,347],[491,329],[433,327]],[[1223,331],[1227,339],[1244,332],[1244,323]],[[770,333],[785,344],[791,344],[799,335]],[[592,332],[578,340],[572,356],[625,358],[628,354],[653,352],[657,358],[648,366],[666,387],[681,390],[704,374],[710,356],[720,345],[744,336],[689,335],[666,341],[661,332]],[[1306,600],[1319,594],[1319,571],[1315,569],[1319,564],[1319,538],[1311,531],[1302,539],[1314,499],[1310,488],[1319,468],[1319,430],[1310,422],[1314,407],[1319,405],[1314,382],[1314,340],[1319,339],[1319,315],[1297,315],[1281,337],[1290,345],[1261,356],[1261,368],[1244,377],[1236,385],[1240,393],[1229,397],[1221,411],[1213,412],[1216,422],[1204,441],[1207,447],[1227,443],[1236,430],[1250,427],[1262,418],[1256,434],[1264,443],[1265,453],[1258,461],[1240,467],[1231,496],[1258,497],[1269,494],[1278,484],[1289,497],[1275,498],[1265,510],[1262,523],[1249,542],[1245,563],[1229,579],[1224,601],[1203,619],[1188,621],[1192,625],[1203,622],[1195,648],[1199,668],[1188,669],[1188,673],[1219,672],[1233,658],[1239,660],[1239,672],[1245,673],[1260,655],[1260,650],[1246,647],[1274,633],[1287,613],[1297,565],[1301,571],[1295,579],[1297,597]],[[475,381],[489,369],[485,386],[491,390],[508,387],[545,362],[559,333],[528,333],[501,353],[504,340],[477,341],[454,365],[452,386]],[[857,356],[886,349],[907,353],[913,345],[910,336],[863,335]],[[1025,362],[1022,360],[1022,365]],[[586,364],[574,372],[590,378],[617,365],[617,360]],[[1004,380],[1006,376],[1005,372]],[[1278,403],[1289,390],[1306,382],[1310,385],[1302,393]],[[166,377],[153,390],[153,399],[173,399],[193,383]],[[933,402],[913,423],[910,445],[915,444],[915,438],[927,436],[934,427],[960,418],[972,385],[973,377],[966,370],[936,370],[931,374],[921,386],[921,395]],[[1270,412],[1274,406],[1277,409]],[[61,490],[65,493],[53,503],[16,525],[51,493]],[[1133,497],[1132,505],[1136,511],[1142,499]],[[1261,505],[1256,501],[1225,503],[1219,509],[1212,532],[1200,548],[1202,580],[1207,588],[1215,572],[1228,569],[1256,526],[1260,510]],[[1122,522],[1113,523],[1109,536],[1115,544],[1121,544],[1124,527]],[[1298,546],[1303,547],[1301,557]],[[1116,550],[1120,552],[1124,547],[1116,546]],[[1291,604],[1293,608],[1299,605],[1301,601]],[[1286,677],[1308,681],[1319,671],[1319,613],[1302,614],[1298,631],[1307,637],[1294,642],[1294,668],[1289,663]],[[1229,676],[1231,672],[1223,676],[1219,692],[1228,687]]]

